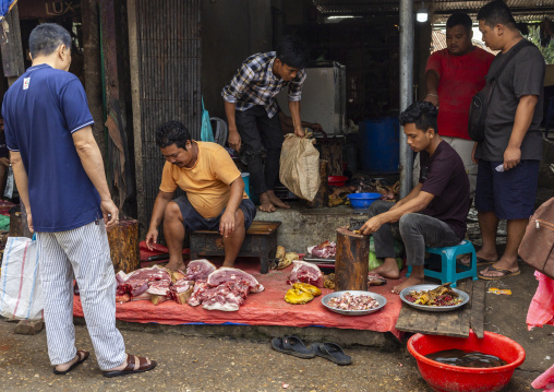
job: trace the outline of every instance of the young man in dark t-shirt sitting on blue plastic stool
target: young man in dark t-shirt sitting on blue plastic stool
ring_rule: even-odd
[[[400,115],[408,145],[420,152],[420,182],[398,203],[376,201],[370,219],[360,229],[373,234],[375,256],[385,259],[372,272],[398,278],[390,223],[398,222],[412,273],[393,292],[423,283],[425,246],[453,247],[466,236],[469,211],[469,179],[458,153],[436,131],[437,109],[427,102],[417,102]]]

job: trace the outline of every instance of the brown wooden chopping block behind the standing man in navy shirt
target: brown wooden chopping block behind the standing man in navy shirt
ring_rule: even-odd
[[[117,226],[108,231],[111,262],[116,273],[130,273],[141,268],[138,249],[138,221],[119,216]]]

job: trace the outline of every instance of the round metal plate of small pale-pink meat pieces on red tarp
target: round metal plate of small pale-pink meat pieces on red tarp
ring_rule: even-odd
[[[335,313],[363,316],[381,310],[387,299],[371,292],[345,290],[327,294],[322,298],[322,304]]]

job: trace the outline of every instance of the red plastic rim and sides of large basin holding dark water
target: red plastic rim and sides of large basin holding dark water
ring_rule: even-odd
[[[495,368],[474,369],[444,365],[425,355],[445,349],[475,351],[495,355],[508,364]],[[495,392],[509,382],[514,370],[526,359],[526,352],[513,340],[493,332],[484,332],[478,338],[473,331],[469,337],[422,335],[418,333],[408,341],[408,351],[418,361],[421,376],[436,392]]]

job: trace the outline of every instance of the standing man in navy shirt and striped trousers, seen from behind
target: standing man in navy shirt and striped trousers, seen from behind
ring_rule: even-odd
[[[116,329],[116,276],[106,228],[119,211],[104,173],[93,117],[79,79],[69,73],[71,36],[57,24],[29,36],[33,66],[8,90],[5,141],[29,229],[37,233],[48,355],[56,375],[88,358],[75,348],[73,276],[104,376],[150,370],[125,355]],[[105,226],[106,224],[106,226]]]

